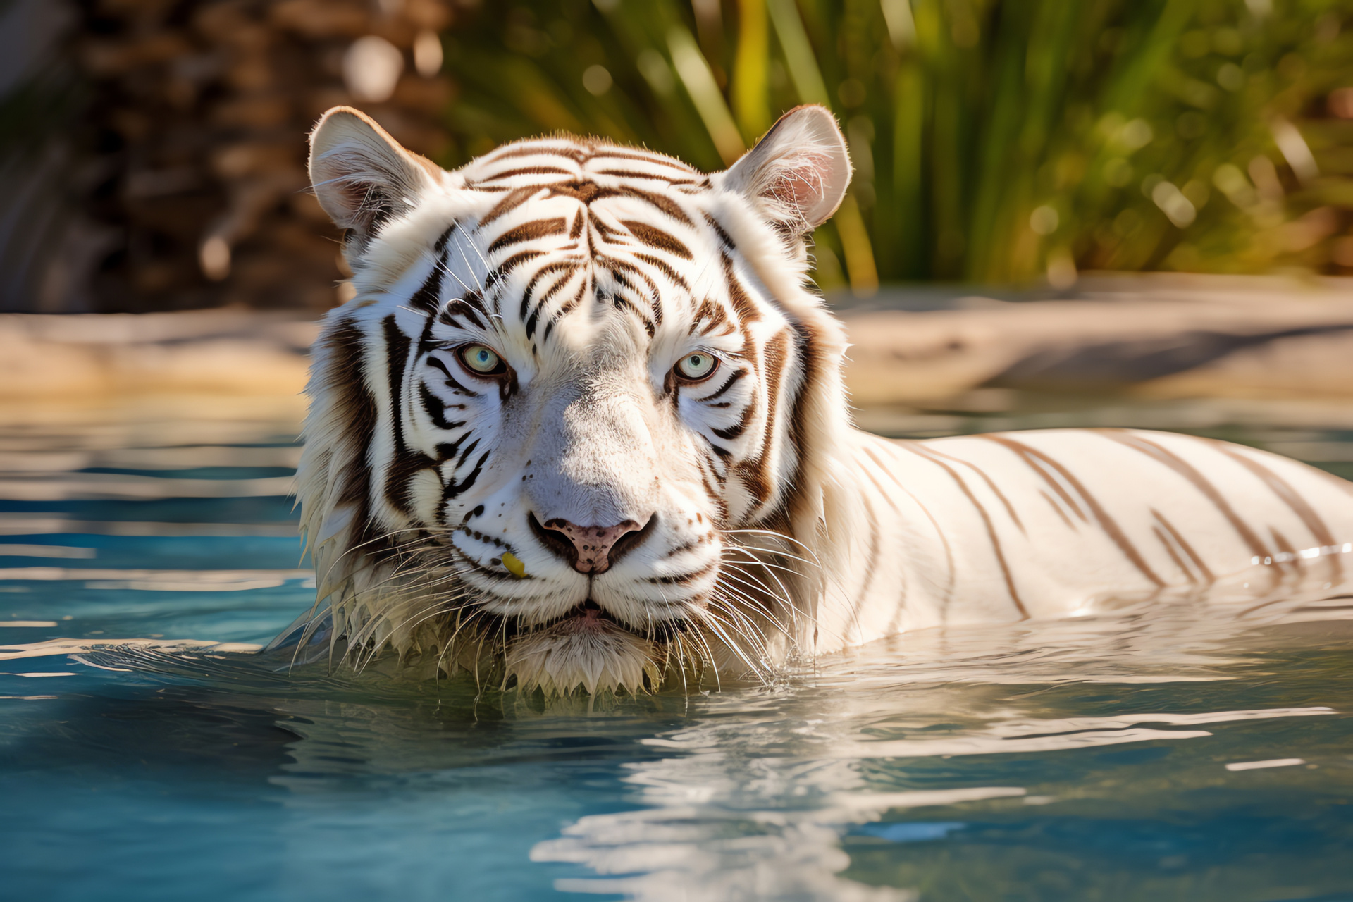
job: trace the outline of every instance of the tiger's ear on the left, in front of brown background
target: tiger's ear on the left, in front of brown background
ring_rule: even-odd
[[[360,254],[384,222],[413,210],[434,172],[436,164],[352,107],[334,107],[310,133],[310,184],[334,224],[349,231],[349,254]]]

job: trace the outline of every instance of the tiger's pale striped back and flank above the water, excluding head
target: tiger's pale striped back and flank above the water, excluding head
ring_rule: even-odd
[[[1108,429],[854,438],[873,529],[823,618],[848,644],[1334,587],[1353,563],[1349,484],[1252,448]]]

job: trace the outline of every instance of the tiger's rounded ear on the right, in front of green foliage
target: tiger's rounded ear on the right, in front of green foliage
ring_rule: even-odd
[[[796,107],[724,173],[777,227],[800,238],[827,222],[850,185],[846,138],[827,107]]]

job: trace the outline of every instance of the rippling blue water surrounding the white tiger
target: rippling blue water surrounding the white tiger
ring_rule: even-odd
[[[862,419],[1184,429],[1353,475],[1346,404],[955,407]],[[932,630],[591,710],[287,675],[222,649],[313,596],[292,399],[0,412],[7,898],[1353,899],[1353,602]],[[42,645],[110,637],[146,644]]]

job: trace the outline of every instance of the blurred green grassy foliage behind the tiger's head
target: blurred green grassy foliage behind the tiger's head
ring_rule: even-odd
[[[828,104],[856,174],[817,233],[825,288],[1353,272],[1349,0],[461,9],[446,164],[567,130],[716,169],[779,112]]]

